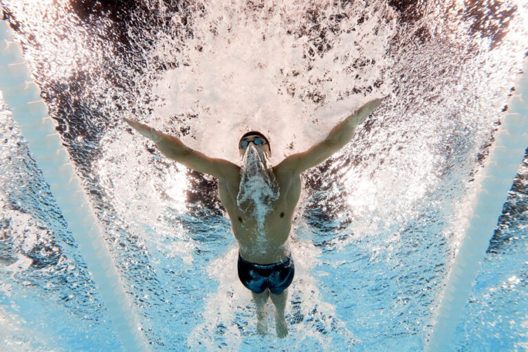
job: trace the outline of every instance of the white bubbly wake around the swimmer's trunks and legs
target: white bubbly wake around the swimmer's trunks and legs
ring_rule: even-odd
[[[203,322],[195,327],[187,338],[192,351],[254,351],[254,346],[280,351],[334,351],[335,336],[341,338],[342,346],[349,348],[358,344],[353,331],[336,313],[336,307],[325,302],[318,289],[318,280],[313,270],[318,265],[320,250],[309,241],[295,240],[292,256],[296,265],[296,278],[288,288],[290,299],[286,305],[286,320],[289,335],[277,339],[274,329],[274,307],[267,304],[267,336],[256,334],[256,313],[248,289],[243,287],[236,274],[238,250],[232,248],[225,256],[212,263],[209,275],[219,282],[217,292],[208,296]]]

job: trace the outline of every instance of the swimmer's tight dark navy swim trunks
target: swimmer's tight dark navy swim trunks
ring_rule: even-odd
[[[239,254],[238,267],[240,281],[256,294],[267,288],[272,294],[282,294],[294,280],[294,261],[290,257],[281,263],[260,265],[242,259]]]

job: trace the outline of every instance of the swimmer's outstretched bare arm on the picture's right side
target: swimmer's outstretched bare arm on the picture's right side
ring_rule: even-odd
[[[371,112],[380,106],[383,99],[374,99],[364,104],[348,118],[335,126],[325,140],[312,146],[304,153],[290,155],[278,164],[277,170],[286,173],[300,174],[308,168],[314,167],[331,157],[333,153],[347,145],[352,139],[355,128],[362,123]]]

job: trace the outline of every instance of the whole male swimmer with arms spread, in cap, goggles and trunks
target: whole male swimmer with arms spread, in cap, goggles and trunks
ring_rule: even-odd
[[[367,102],[336,125],[325,140],[304,153],[289,155],[276,166],[268,162],[272,155],[270,142],[256,131],[241,137],[238,148],[242,165],[238,166],[208,157],[177,137],[124,118],[137,132],[153,140],[166,157],[218,179],[219,197],[239,243],[239,278],[252,292],[259,334],[267,333],[265,305],[270,298],[275,306],[277,336],[284,338],[288,333],[284,310],[295,270],[287,241],[300,197],[300,174],[345,146],[358,124],[381,103],[382,99]]]

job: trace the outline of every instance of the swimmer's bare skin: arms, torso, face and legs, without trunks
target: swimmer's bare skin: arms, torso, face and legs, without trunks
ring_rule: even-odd
[[[199,151],[188,148],[177,137],[156,131],[146,126],[146,124],[126,118],[124,120],[141,135],[153,140],[159,150],[170,159],[218,179],[219,197],[230,217],[234,236],[239,243],[241,257],[252,263],[266,265],[280,263],[289,256],[286,243],[292,228],[294,211],[300,197],[300,174],[324,162],[325,159],[331,157],[333,153],[345,146],[352,139],[358,124],[362,123],[381,103],[382,99],[367,102],[358,111],[355,111],[355,113],[349,115],[349,117],[335,126],[325,140],[303,153],[289,155],[272,168],[278,182],[280,195],[278,199],[268,204],[273,211],[269,212],[265,218],[263,226],[265,233],[259,230],[253,213],[243,212],[236,203],[236,196],[239,194],[241,182],[240,166],[224,159],[208,157]],[[249,135],[243,140],[252,142],[257,137]],[[271,155],[270,146],[267,144],[255,146],[255,148],[259,153]],[[247,148],[242,149],[239,147],[239,151],[241,156],[243,156]],[[257,236],[265,239],[264,244],[262,241],[256,243],[255,239]],[[278,295],[272,294],[269,289],[265,289],[261,294],[252,294],[256,305],[258,333],[265,335],[267,332],[265,305],[268,298],[271,298],[276,309],[277,336],[279,338],[287,336],[288,331],[284,315],[287,290]]]

